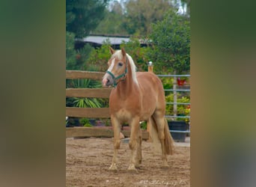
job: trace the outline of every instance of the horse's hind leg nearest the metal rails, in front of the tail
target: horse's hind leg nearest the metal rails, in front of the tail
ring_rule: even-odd
[[[157,114],[153,116],[153,120],[156,122],[157,130],[158,130],[158,136],[159,141],[161,143],[162,148],[162,168],[168,168],[168,162],[167,162],[167,156],[165,153],[165,118],[159,117]]]

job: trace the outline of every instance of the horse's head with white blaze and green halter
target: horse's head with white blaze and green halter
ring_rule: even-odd
[[[127,53],[124,49],[115,52],[114,49],[110,47],[110,52],[112,57],[109,59],[109,69],[103,76],[103,86],[116,86],[118,82],[125,79],[127,76]]]

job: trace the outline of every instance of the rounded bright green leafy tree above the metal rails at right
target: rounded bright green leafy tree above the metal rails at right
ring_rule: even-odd
[[[164,19],[152,25],[152,50],[147,54],[155,62],[156,72],[188,73],[190,70],[189,20],[174,10],[165,13]]]

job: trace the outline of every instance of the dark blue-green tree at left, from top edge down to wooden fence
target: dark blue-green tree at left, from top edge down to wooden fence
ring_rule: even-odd
[[[66,69],[84,70],[93,50],[88,44],[74,49],[75,38],[86,37],[106,12],[109,0],[66,0]]]

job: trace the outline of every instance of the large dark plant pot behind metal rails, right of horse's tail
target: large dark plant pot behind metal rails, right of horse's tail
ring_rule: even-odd
[[[171,132],[171,136],[174,141],[182,141],[184,142],[186,139],[186,130],[188,129],[188,125],[185,121],[180,120],[172,120],[168,121],[168,126],[171,131],[181,131],[181,132]],[[182,132],[184,131],[184,132]]]

